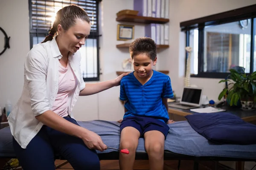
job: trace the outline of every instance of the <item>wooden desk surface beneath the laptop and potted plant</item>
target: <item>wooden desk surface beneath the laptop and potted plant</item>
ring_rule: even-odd
[[[256,110],[243,111],[240,108],[234,108],[234,107],[229,107],[229,106],[223,106],[221,108],[225,109],[226,112],[233,113],[233,114],[239,116],[245,122],[256,122]],[[184,109],[169,107],[168,113],[178,115],[178,116],[186,116],[186,115],[189,115],[189,114],[193,114],[195,112],[192,112],[189,109],[184,110]]]

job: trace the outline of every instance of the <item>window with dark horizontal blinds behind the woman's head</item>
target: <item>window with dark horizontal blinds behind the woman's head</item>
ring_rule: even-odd
[[[55,19],[57,11],[76,4],[83,8],[91,21],[90,36],[80,48],[81,72],[84,81],[99,80],[99,2],[101,0],[29,0],[30,48],[41,43]]]

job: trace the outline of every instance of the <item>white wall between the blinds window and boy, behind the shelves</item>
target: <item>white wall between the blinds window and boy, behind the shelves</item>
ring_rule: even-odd
[[[116,44],[117,24],[116,13],[122,9],[132,9],[133,4],[127,0],[103,0],[101,3],[101,34],[100,39],[100,65],[102,68],[101,81],[117,77],[116,71],[122,71],[122,60],[129,58],[128,49],[118,49]],[[114,7],[113,7],[114,5]],[[133,23],[127,23],[134,25]],[[134,37],[144,34],[143,26],[135,26]],[[121,41],[122,42],[122,41]],[[124,109],[119,101],[119,87],[111,88],[99,93],[99,119],[118,120],[122,119]]]

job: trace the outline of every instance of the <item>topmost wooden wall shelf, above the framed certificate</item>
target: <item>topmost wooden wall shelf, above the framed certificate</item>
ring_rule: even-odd
[[[154,17],[143,17],[143,16],[137,16],[137,15],[124,14],[124,15],[121,15],[119,17],[116,17],[116,21],[133,22],[133,23],[158,23],[158,24],[164,24],[164,23],[168,23],[169,19],[154,18]]]

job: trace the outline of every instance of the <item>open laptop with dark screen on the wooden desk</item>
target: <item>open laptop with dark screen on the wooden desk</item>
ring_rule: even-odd
[[[203,88],[184,87],[180,103],[170,103],[169,107],[180,109],[192,109],[201,106]]]

